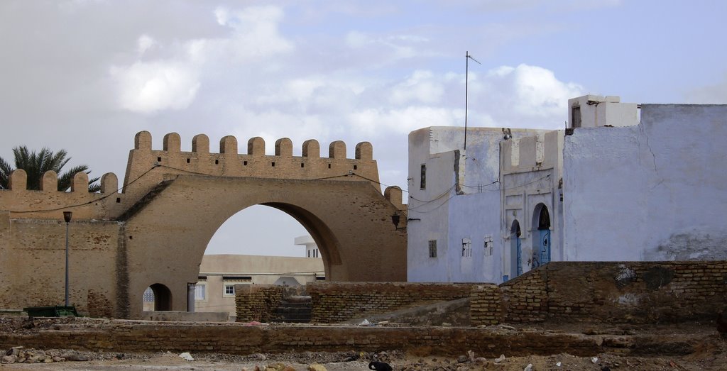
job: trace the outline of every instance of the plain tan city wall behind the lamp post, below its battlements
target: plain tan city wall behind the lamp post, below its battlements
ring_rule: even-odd
[[[0,308],[63,305],[65,222],[5,219]],[[119,223],[71,221],[68,226],[70,304],[91,317],[116,317]]]

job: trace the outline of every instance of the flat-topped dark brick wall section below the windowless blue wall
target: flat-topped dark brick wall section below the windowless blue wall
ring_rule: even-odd
[[[545,266],[554,319],[676,322],[727,306],[727,261],[556,262]]]

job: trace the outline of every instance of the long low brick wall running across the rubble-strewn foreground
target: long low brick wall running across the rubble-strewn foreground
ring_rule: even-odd
[[[83,325],[79,326],[82,321]],[[56,323],[54,325],[53,323]],[[400,350],[421,356],[524,356],[606,351],[601,335],[532,333],[473,327],[244,326],[108,319],[43,319],[37,333],[0,333],[0,348],[64,348],[91,351],[254,354],[292,351]],[[635,349],[624,348],[624,351]]]

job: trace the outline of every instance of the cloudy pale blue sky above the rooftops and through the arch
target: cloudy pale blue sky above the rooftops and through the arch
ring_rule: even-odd
[[[467,52],[468,126],[562,129],[583,94],[726,104],[726,17],[716,0],[4,0],[0,157],[65,149],[122,179],[142,130],[212,152],[230,134],[268,154],[367,141],[406,190],[407,134],[464,126]],[[254,206],[206,253],[303,256],[305,233]]]

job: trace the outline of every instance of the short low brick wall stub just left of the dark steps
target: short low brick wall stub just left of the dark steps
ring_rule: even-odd
[[[277,285],[235,285],[235,321],[269,322],[283,300],[284,290]]]

